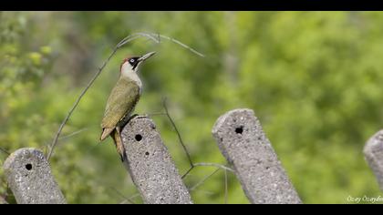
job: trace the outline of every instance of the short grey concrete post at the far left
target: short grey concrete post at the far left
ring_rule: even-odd
[[[66,200],[58,189],[43,152],[20,148],[4,163],[5,177],[18,204],[63,204]]]

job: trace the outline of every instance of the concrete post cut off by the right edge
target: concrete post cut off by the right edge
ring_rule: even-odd
[[[383,130],[379,130],[368,139],[363,152],[369,167],[378,179],[380,189],[383,190]]]

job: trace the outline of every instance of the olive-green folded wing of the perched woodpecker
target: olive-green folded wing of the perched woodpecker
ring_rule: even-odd
[[[119,120],[131,114],[140,99],[140,87],[135,81],[121,77],[110,93],[102,128],[116,128]]]

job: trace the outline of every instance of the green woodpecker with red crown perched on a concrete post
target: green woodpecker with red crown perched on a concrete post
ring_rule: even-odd
[[[119,80],[110,93],[104,118],[102,118],[100,140],[109,136],[113,138],[122,161],[126,159],[126,154],[120,138],[120,130],[132,117],[134,107],[140,99],[142,83],[138,76],[139,67],[154,54],[155,52],[150,52],[144,56],[131,56],[122,61],[119,68]]]

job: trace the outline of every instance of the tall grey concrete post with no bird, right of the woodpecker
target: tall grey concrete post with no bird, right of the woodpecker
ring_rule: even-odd
[[[224,114],[212,135],[252,203],[301,203],[253,110]]]

